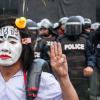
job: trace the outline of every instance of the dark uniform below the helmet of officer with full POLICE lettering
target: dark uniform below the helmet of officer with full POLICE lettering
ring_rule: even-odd
[[[67,57],[69,76],[80,100],[89,100],[89,79],[84,77],[83,69],[86,66],[94,66],[91,62],[89,48],[86,47],[86,39],[84,35],[81,35],[75,41],[70,40],[66,36],[62,36],[58,39],[62,44],[63,53]],[[90,57],[88,61],[86,61],[86,56]]]

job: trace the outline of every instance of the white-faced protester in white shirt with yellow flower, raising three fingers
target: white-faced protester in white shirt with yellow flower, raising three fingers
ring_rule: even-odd
[[[50,57],[57,80],[53,74],[42,71],[39,91],[34,100],[79,100],[70,82],[67,59],[62,54],[60,43],[51,46]],[[34,94],[26,96],[25,88],[28,85],[25,72],[28,73],[32,63],[26,19],[0,19],[0,100],[30,100],[26,97],[34,97]]]

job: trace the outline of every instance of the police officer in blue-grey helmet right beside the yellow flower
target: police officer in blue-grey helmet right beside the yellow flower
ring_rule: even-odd
[[[39,26],[36,22],[31,19],[27,19],[27,27],[30,31],[32,38],[32,50],[34,52],[34,58],[41,58],[42,48],[44,45],[44,41],[39,36]]]

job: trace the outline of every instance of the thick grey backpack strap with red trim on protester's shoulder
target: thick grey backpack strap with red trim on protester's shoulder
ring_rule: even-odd
[[[43,59],[38,58],[33,61],[32,66],[27,72],[27,100],[33,100],[36,98],[39,90],[41,73],[43,69],[48,69],[48,67],[48,63]]]

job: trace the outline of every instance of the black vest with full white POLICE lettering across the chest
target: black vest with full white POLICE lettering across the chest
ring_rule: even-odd
[[[76,73],[77,75],[83,73],[83,68],[86,67],[86,38],[80,36],[77,40],[71,41],[67,37],[62,37],[59,41],[62,44],[63,53],[67,57],[69,72],[73,69],[73,73]],[[79,73],[77,73],[78,70],[80,71]]]

